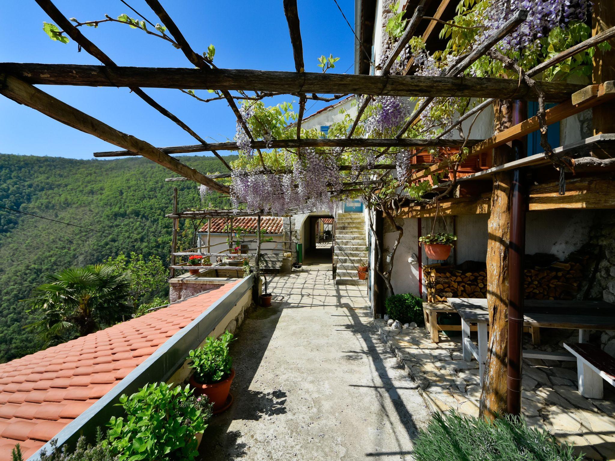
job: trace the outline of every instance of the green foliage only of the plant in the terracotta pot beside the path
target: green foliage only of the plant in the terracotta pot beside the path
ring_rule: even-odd
[[[220,339],[208,337],[199,349],[193,349],[188,355],[188,366],[194,370],[194,380],[201,384],[213,384],[231,374],[232,357],[229,344],[232,334],[228,331]]]

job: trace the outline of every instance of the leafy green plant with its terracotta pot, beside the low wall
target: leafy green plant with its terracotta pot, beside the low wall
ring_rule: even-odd
[[[208,337],[205,344],[188,354],[188,366],[194,372],[190,385],[196,395],[206,395],[213,404],[213,412],[228,408],[231,382],[235,377],[229,344],[232,334],[226,331],[220,338]]]

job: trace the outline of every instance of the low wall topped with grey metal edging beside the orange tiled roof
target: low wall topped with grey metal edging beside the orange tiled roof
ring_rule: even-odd
[[[66,425],[54,437],[57,440],[57,446],[76,443],[77,438],[82,435],[93,438],[98,427],[105,428],[111,416],[121,414],[121,409],[116,406],[116,403],[122,394],[130,395],[148,383],[165,382],[173,376],[173,373],[186,360],[188,351],[205,341],[208,334],[212,333],[213,329],[231,312],[237,302],[252,290],[253,285],[253,275],[242,279],[230,291],[214,301],[199,317],[192,320],[185,328],[180,329],[167,342],[161,344],[156,352],[133,369],[105,396],[85,410],[73,422]],[[39,461],[42,450],[49,453],[51,451],[50,442],[44,444],[41,449],[31,455],[28,461]]]

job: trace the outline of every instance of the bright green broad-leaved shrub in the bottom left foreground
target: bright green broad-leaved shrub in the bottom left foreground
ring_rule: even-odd
[[[194,460],[198,455],[195,435],[207,427],[208,414],[188,386],[148,384],[119,401],[126,418],[111,417],[107,433],[119,461]]]

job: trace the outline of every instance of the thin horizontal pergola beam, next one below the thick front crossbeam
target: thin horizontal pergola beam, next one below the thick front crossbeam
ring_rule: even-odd
[[[477,141],[468,141],[470,146],[473,146]],[[290,139],[290,140],[272,140],[269,141],[253,141],[253,148],[262,149],[296,149],[296,148],[428,148],[428,147],[447,147],[458,148],[463,145],[461,140],[440,140],[434,138],[426,139],[367,139],[367,138],[316,138],[316,139]],[[167,148],[158,148],[165,154],[188,154],[192,152],[206,151],[237,151],[239,146],[237,143],[210,143],[210,144],[192,144],[191,146],[171,146]],[[94,157],[124,157],[133,156],[134,153],[129,151],[108,151],[94,152]]]

